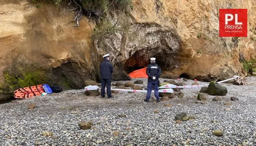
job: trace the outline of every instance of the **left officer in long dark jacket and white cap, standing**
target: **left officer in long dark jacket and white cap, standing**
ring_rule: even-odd
[[[105,97],[105,86],[107,86],[108,98],[113,98],[111,95],[111,78],[113,73],[113,66],[109,61],[109,54],[103,56],[104,60],[100,63],[100,75],[101,75],[101,97]]]

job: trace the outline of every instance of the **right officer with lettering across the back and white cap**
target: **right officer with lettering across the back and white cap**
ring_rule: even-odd
[[[148,86],[147,86],[147,96],[144,100],[145,102],[149,102],[150,94],[152,91],[152,87],[154,88],[154,94],[156,97],[156,102],[160,102],[160,97],[158,93],[158,80],[161,74],[161,68],[156,64],[156,58],[150,58],[150,64],[146,68],[146,74],[148,75]]]

